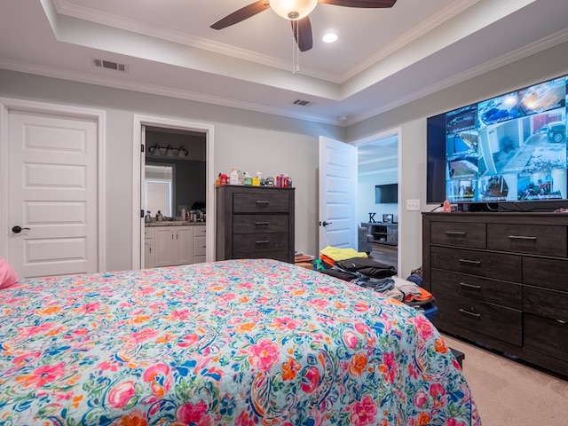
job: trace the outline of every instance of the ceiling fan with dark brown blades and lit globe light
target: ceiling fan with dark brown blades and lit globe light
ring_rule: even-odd
[[[312,24],[308,15],[318,3],[344,7],[389,8],[397,3],[397,0],[257,0],[228,14],[222,20],[217,20],[210,28],[227,28],[266,9],[272,9],[285,20],[291,21],[292,32],[300,51],[309,51],[312,49],[313,39]]]

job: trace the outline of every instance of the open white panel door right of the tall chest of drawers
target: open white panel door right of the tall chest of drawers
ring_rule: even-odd
[[[358,248],[355,223],[357,148],[319,137],[319,250]]]

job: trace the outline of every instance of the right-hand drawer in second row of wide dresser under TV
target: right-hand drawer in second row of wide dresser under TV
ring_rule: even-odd
[[[568,261],[523,257],[523,283],[568,291]]]

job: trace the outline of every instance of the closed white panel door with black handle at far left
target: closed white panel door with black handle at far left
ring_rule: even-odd
[[[20,278],[97,272],[97,122],[14,110],[8,127],[14,269]]]

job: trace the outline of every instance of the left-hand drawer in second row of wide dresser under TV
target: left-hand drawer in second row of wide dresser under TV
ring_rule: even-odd
[[[446,271],[516,282],[520,282],[522,272],[521,256],[465,248],[432,247],[430,265]]]

